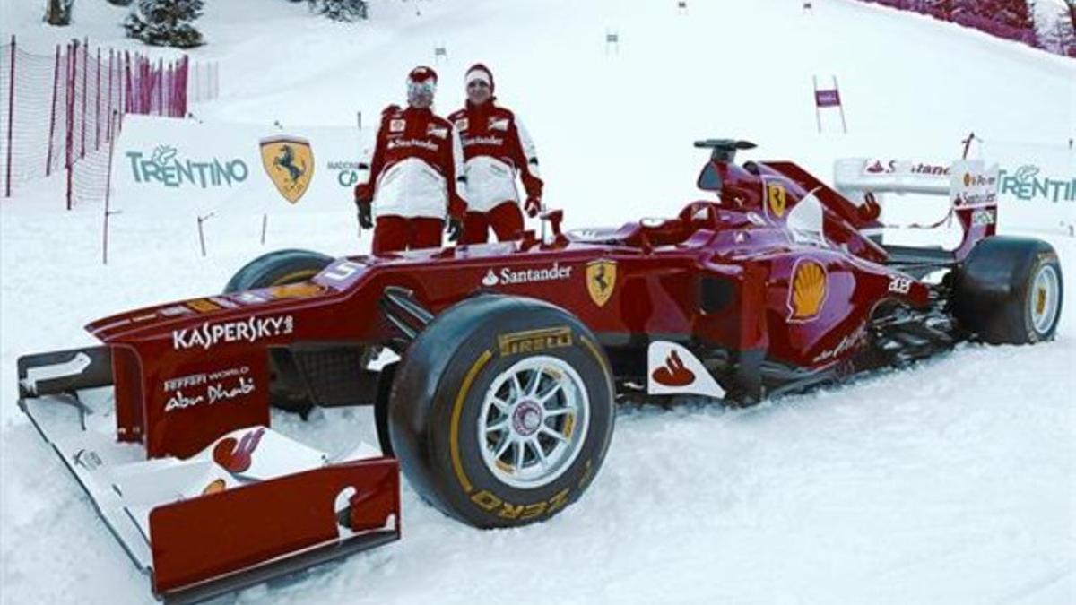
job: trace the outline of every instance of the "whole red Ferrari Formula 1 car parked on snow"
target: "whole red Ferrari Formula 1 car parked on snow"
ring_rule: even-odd
[[[285,250],[223,292],[95,321],[18,361],[19,405],[154,593],[193,601],[399,536],[397,464],[477,527],[549,519],[601,467],[633,394],[747,406],[962,340],[1049,340],[1053,249],[995,236],[996,179],[953,166],[954,251],[872,239],[789,161],[707,140],[716,200],[617,229],[330,258]],[[544,231],[549,230],[549,234]],[[380,449],[329,455],[270,408],[371,405]]]

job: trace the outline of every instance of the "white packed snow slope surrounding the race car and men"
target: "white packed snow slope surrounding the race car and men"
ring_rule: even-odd
[[[71,36],[130,47],[104,2],[77,2],[70,30],[41,25],[41,2],[0,2],[0,28],[42,52]],[[461,105],[465,69],[489,64],[568,226],[675,214],[700,195],[691,142],[705,137],[823,178],[838,156],[952,158],[971,130],[1076,137],[1076,61],[858,2],[801,4],[376,0],[368,23],[338,25],[283,0],[213,1],[194,54],[220,61],[223,96],[195,112],[369,123],[443,44],[437,109]],[[816,132],[812,74],[839,78],[850,135]],[[264,249],[215,238],[202,258],[193,217],[130,212],[102,266],[101,208],[61,212],[62,191],[53,179],[0,200],[0,601],[145,603],[146,578],[18,413],[15,360],[89,343],[81,326],[117,310],[215,292]],[[365,252],[339,206],[273,225],[267,248]],[[1076,241],[1051,242],[1073,283]],[[402,541],[238,602],[1076,602],[1073,309],[1039,347],[963,346],[749,410],[624,408],[601,473],[554,520],[480,532],[405,487]],[[274,422],[330,447],[374,440],[368,409]]]

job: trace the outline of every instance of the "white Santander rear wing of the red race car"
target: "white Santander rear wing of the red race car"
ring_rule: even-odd
[[[982,160],[938,164],[841,158],[834,163],[833,182],[840,195],[855,201],[884,193],[947,196],[951,206],[946,220],[955,216],[964,231],[952,253],[954,261],[963,259],[976,242],[997,230],[999,169],[996,165],[988,168]]]

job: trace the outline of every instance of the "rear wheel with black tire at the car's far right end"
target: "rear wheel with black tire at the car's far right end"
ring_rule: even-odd
[[[978,242],[957,271],[953,311],[978,340],[1030,344],[1053,338],[1063,294],[1050,244],[995,236]]]

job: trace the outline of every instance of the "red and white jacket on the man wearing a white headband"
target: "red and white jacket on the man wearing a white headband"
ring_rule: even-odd
[[[472,212],[489,212],[505,201],[520,201],[515,177],[523,180],[527,197],[540,197],[538,155],[526,128],[515,115],[494,104],[494,99],[449,115],[464,147],[467,205]]]

